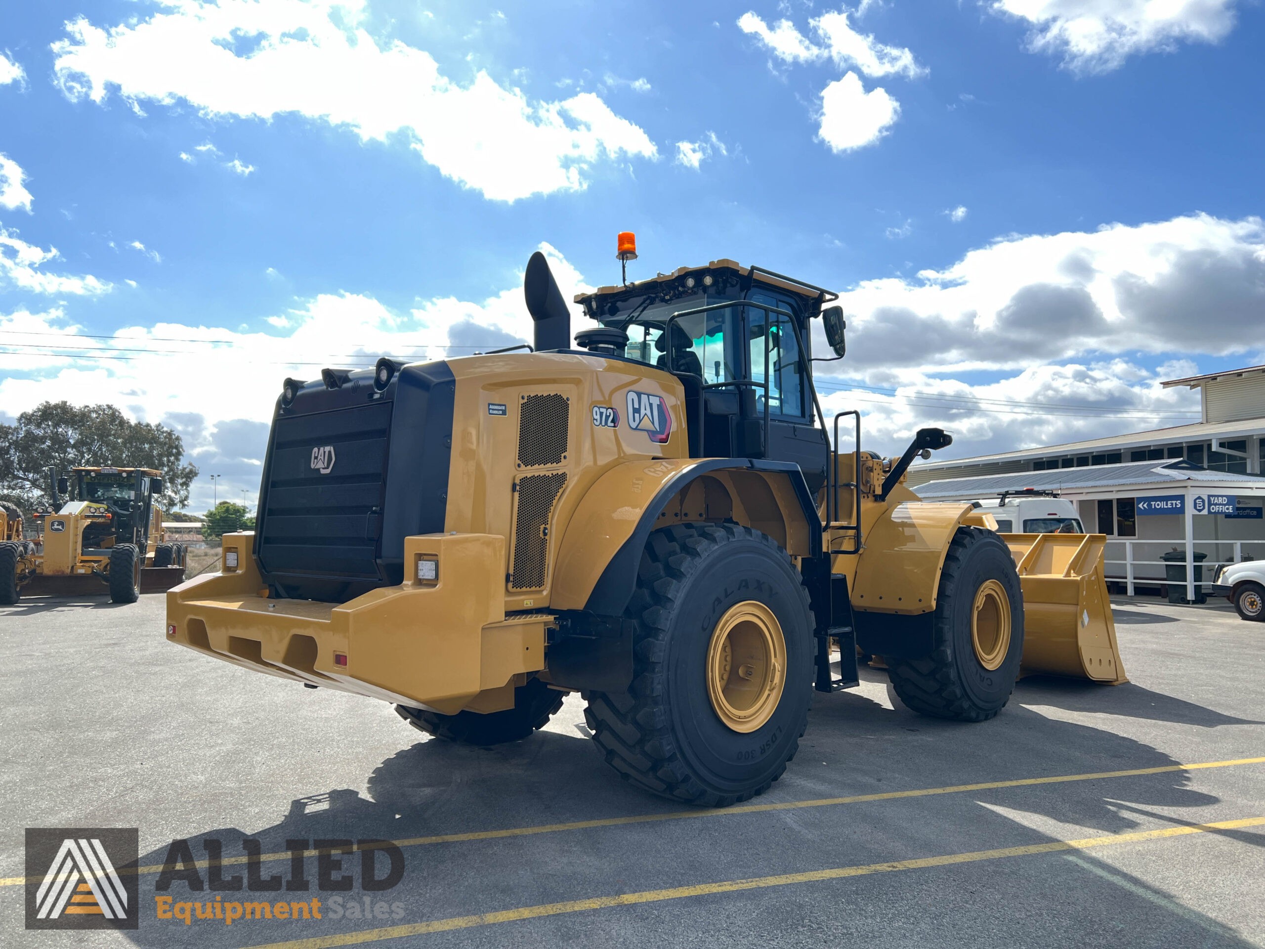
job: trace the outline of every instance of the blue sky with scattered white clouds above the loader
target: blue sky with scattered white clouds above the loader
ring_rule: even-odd
[[[874,448],[1179,424],[1160,380],[1265,361],[1262,39],[1233,0],[10,4],[0,418],[111,401],[253,496],[281,378],[521,338],[533,251],[569,292],[631,229],[630,276],[844,291],[824,388]]]

